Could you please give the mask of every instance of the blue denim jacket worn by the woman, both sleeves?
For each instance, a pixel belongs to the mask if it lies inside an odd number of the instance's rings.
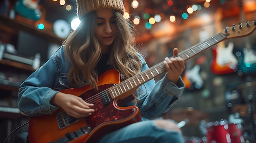
[[[141,61],[141,71],[147,70],[148,65],[138,53]],[[68,60],[69,61],[69,60]],[[32,73],[21,85],[18,92],[18,107],[28,116],[51,114],[59,107],[50,104],[50,100],[60,90],[70,88],[67,74],[70,70],[64,56],[64,46],[49,58],[43,66]],[[154,79],[141,85],[136,91],[137,106],[142,119],[153,119],[167,112],[180,98],[184,90],[184,82],[180,78],[177,85],[166,76],[155,83]],[[134,105],[132,101],[126,106]],[[145,119],[145,120],[146,120]]]

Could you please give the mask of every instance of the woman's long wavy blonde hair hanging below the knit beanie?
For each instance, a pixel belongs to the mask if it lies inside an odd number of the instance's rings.
[[[110,66],[119,70],[127,79],[141,71],[141,63],[135,47],[134,28],[119,11],[113,10],[117,37],[111,44]],[[97,88],[98,76],[95,67],[101,58],[101,47],[95,35],[97,16],[95,11],[85,15],[79,27],[63,42],[65,53],[72,67],[67,75],[71,87],[86,85]]]

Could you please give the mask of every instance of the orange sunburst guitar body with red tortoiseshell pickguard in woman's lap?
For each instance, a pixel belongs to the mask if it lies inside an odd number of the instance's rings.
[[[76,95],[85,100],[119,82],[119,72],[108,70],[99,76],[99,90],[92,89],[88,85],[61,90],[61,92]],[[99,98],[96,95],[92,100]],[[137,106],[122,108],[117,105],[118,100],[119,98],[110,98],[108,103],[104,103],[105,100],[102,99],[98,100],[94,103],[95,112],[82,119],[70,117],[61,108],[53,114],[30,117],[29,143],[95,143],[103,134],[141,120]],[[90,103],[90,100],[88,102]]]

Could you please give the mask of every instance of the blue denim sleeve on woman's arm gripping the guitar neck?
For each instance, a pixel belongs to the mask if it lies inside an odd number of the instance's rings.
[[[140,59],[142,64],[141,71],[147,70],[148,65],[141,55]],[[142,117],[153,119],[167,112],[180,99],[184,88],[185,84],[181,77],[176,85],[166,78],[166,73],[157,83],[152,79],[140,86],[136,91],[136,95],[138,95],[137,106]]]

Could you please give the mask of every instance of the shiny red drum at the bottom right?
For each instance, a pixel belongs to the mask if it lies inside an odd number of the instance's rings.
[[[225,120],[208,123],[206,138],[207,143],[245,143],[242,125]]]

